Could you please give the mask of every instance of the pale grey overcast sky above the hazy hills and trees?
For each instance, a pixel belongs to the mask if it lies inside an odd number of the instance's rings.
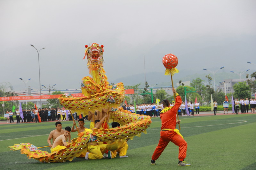
[[[19,91],[19,78],[31,78],[28,85],[39,88],[37,52],[30,44],[45,47],[41,84],[57,89],[80,88],[89,76],[84,45],[93,42],[104,45],[109,82],[144,73],[144,54],[147,73],[164,74],[168,53],[188,75],[221,66],[227,72],[255,70],[246,63],[256,63],[255,9],[254,0],[1,0],[0,82]]]

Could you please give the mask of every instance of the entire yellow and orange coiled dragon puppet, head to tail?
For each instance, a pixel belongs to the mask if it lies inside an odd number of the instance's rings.
[[[120,139],[132,139],[134,136],[140,136],[142,132],[147,133],[146,129],[151,123],[150,116],[137,115],[117,108],[124,100],[124,85],[123,83],[113,86],[108,84],[102,64],[103,52],[103,45],[99,46],[97,43],[93,43],[91,47],[86,47],[87,65],[93,78],[84,77],[82,79],[81,89],[84,97],[74,98],[65,93],[59,98],[60,104],[78,115],[87,115],[88,111],[111,108],[111,118],[122,126],[111,129],[94,129],[93,131],[85,130],[79,133],[78,137],[73,139],[64,149],[52,153],[39,150],[30,143],[14,144],[9,146],[12,148],[11,150],[20,150],[28,158],[41,162],[65,162],[67,160],[72,161],[82,152],[86,152],[90,142],[112,143]]]

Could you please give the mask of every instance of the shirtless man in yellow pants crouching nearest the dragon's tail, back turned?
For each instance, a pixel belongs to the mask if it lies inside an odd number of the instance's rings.
[[[67,139],[70,137],[71,128],[67,126],[64,130],[64,134],[58,136],[52,144],[51,152],[59,151],[61,149],[66,148],[68,145]]]

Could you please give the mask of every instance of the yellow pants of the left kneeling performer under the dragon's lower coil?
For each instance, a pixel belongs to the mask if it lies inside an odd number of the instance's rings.
[[[89,159],[102,159],[107,150],[107,144],[98,144],[88,146]]]

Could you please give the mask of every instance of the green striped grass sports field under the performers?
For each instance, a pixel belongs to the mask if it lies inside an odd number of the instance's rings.
[[[13,144],[29,142],[38,147],[47,145],[47,137],[55,122],[0,125],[0,169],[256,169],[256,114],[180,117],[180,133],[188,143],[188,167],[178,165],[178,146],[169,143],[151,166],[151,156],[158,144],[160,118],[152,118],[147,134],[128,141],[128,158],[40,163],[28,159],[20,151],[10,151]],[[72,126],[63,122],[62,127]],[[85,123],[89,127],[89,122]],[[71,134],[75,138],[76,133]],[[42,148],[50,152],[50,148]]]

